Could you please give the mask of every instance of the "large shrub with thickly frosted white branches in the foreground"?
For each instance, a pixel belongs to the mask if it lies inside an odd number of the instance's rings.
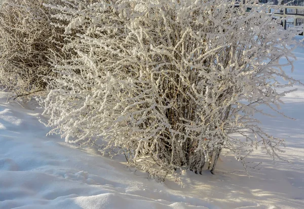
[[[283,140],[252,117],[276,109],[292,86],[290,31],[268,6],[222,0],[70,0],[65,45],[44,114],[66,142],[116,148],[130,164],[165,177],[176,169],[214,172],[223,148],[244,157],[258,147],[279,158]],[[280,58],[285,58],[280,64]],[[279,78],[283,78],[281,82]]]

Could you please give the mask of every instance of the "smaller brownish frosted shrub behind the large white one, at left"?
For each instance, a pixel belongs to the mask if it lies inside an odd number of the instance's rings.
[[[17,96],[46,89],[49,58],[61,52],[61,29],[43,3],[60,0],[6,0],[0,8],[0,82]]]

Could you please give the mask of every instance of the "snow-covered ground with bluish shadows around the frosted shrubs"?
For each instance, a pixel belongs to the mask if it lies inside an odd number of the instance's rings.
[[[304,81],[304,49],[295,51],[294,77]],[[286,138],[282,156],[292,163],[256,152],[262,161],[244,172],[229,154],[221,156],[215,175],[183,174],[185,187],[174,180],[158,183],[124,162],[78,148],[58,136],[47,136],[33,105],[7,103],[0,93],[0,208],[304,208],[304,87],[287,95],[282,116],[259,116],[275,136]]]

